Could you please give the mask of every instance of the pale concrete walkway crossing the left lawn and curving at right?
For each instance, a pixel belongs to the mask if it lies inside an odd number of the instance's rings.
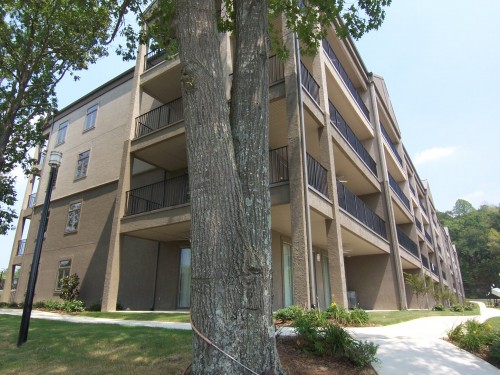
[[[500,310],[486,308],[478,302],[480,316],[429,317],[385,327],[349,328],[360,340],[379,345],[379,375],[499,375],[500,371],[478,357],[443,340],[447,332],[467,319],[480,322],[500,316]],[[21,310],[0,309],[0,314],[21,315]],[[188,323],[148,322],[61,315],[33,310],[32,318],[62,320],[74,323],[120,324],[168,329],[191,329]],[[283,332],[290,333],[289,330]]]

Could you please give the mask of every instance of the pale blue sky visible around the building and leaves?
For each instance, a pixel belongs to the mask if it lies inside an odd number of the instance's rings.
[[[459,198],[500,204],[499,14],[498,0],[394,0],[382,27],[356,42],[367,69],[385,78],[403,143],[440,211]],[[67,77],[59,107],[131,66],[111,53],[80,81]],[[0,236],[0,269],[13,240],[14,231]]]

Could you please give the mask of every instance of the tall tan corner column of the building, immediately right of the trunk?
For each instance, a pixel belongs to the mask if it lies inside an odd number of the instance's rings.
[[[300,131],[299,93],[297,85],[297,66],[294,59],[295,43],[293,33],[284,34],[285,45],[290,58],[285,61],[286,113],[288,124],[288,173],[290,185],[290,215],[292,232],[292,269],[293,302],[296,305],[310,306],[310,282],[308,238],[306,230],[306,204],[303,173],[302,135]]]

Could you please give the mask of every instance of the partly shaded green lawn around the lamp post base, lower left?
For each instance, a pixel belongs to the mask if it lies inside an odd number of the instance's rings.
[[[191,362],[190,331],[31,319],[17,348],[20,322],[0,315],[2,375],[182,374]]]

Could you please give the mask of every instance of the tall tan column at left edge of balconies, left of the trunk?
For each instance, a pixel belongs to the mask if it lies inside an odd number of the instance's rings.
[[[115,210],[113,214],[113,224],[111,226],[111,236],[108,250],[108,260],[106,263],[106,274],[104,279],[102,295],[102,311],[115,311],[118,301],[118,288],[120,284],[120,249],[122,236],[120,235],[120,220],[125,213],[126,192],[130,190],[130,180],[132,176],[132,156],[130,155],[130,140],[134,137],[135,118],[140,114],[141,88],[140,76],[144,69],[144,56],[146,46],[139,47],[135,66],[134,78],[132,80],[129,123],[130,129],[128,138],[123,143],[122,164],[120,179],[116,190]]]

